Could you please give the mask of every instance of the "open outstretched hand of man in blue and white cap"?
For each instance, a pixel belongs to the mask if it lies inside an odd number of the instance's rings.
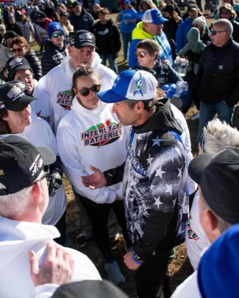
[[[90,189],[101,188],[106,185],[106,179],[104,174],[99,170],[90,165],[90,170],[94,173],[88,176],[81,176],[81,182],[85,187]]]

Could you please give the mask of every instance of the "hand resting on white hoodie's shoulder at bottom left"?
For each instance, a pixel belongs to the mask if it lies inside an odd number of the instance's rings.
[[[35,286],[52,283],[63,285],[71,282],[74,260],[71,254],[60,245],[49,242],[44,264],[39,268],[38,258],[34,251],[29,252],[30,277]]]

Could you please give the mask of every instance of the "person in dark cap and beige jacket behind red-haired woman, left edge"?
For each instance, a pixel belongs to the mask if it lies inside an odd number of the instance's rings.
[[[5,67],[7,60],[13,56],[12,40],[17,34],[14,31],[7,31],[0,44],[0,70]]]

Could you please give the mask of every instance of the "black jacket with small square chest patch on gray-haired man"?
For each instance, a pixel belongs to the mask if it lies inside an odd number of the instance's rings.
[[[239,44],[230,38],[222,47],[205,47],[193,89],[205,104],[234,106],[239,100]]]

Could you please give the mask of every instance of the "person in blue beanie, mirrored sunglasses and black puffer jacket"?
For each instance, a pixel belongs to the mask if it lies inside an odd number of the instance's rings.
[[[67,43],[64,40],[64,30],[58,22],[51,22],[47,27],[49,39],[46,40],[45,52],[41,57],[43,76],[59,65],[67,55]]]

